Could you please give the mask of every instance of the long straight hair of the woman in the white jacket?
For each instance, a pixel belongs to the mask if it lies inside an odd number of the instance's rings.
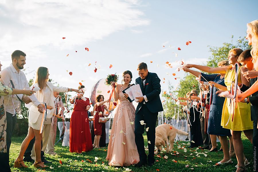
[[[48,81],[46,79],[47,73],[48,73],[48,68],[46,67],[39,67],[37,69],[33,84],[38,83],[38,87],[40,87],[40,93],[42,92],[42,89],[46,87],[46,82]]]

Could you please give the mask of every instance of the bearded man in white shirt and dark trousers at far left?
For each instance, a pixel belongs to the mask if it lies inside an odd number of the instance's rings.
[[[26,64],[26,54],[20,50],[15,50],[12,55],[12,63],[9,67],[3,69],[0,73],[2,76],[0,81],[11,88],[16,89],[30,89],[28,81],[26,79],[25,74],[21,71],[24,68],[24,64]],[[31,97],[31,98],[30,98]],[[21,101],[28,104],[32,102],[36,107],[38,107],[38,111],[43,113],[43,106],[38,102],[38,99],[35,95],[25,96],[23,94],[18,95],[9,95],[4,97],[4,107],[6,110],[7,116],[7,153],[9,155],[9,149],[11,145],[11,135],[13,133],[17,116],[16,114],[21,114]]]

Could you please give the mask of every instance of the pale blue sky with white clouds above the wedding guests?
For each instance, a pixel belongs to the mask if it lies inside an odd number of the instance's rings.
[[[19,49],[27,54],[25,67],[32,71],[28,79],[38,67],[48,67],[50,78],[62,86],[75,88],[85,80],[87,97],[94,83],[108,74],[130,70],[136,79],[138,63],[146,62],[165,91],[168,81],[177,85],[185,75],[175,72],[176,61],[205,63],[211,55],[208,45],[221,46],[231,41],[231,35],[233,42],[246,36],[246,24],[257,19],[257,6],[255,0],[1,1],[2,69]],[[186,46],[188,40],[192,43]]]

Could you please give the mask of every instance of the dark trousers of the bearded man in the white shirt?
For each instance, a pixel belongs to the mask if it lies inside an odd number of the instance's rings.
[[[8,162],[9,162],[9,152],[10,152],[10,146],[11,146],[11,137],[13,134],[13,130],[17,121],[16,114],[13,116],[13,114],[10,114],[9,112],[6,112],[6,120],[7,120],[7,126],[6,126],[6,144],[7,144],[7,154],[8,154]]]

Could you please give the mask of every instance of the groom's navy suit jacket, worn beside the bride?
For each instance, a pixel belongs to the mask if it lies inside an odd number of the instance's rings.
[[[136,78],[136,84],[140,85],[142,94],[146,95],[148,101],[145,102],[148,110],[151,113],[157,113],[163,111],[162,103],[159,97],[161,92],[160,79],[156,73],[148,72],[148,75],[145,80],[145,85],[143,87],[143,81],[140,77]],[[139,102],[136,107],[135,114],[138,113],[140,107],[142,107],[143,102]]]

